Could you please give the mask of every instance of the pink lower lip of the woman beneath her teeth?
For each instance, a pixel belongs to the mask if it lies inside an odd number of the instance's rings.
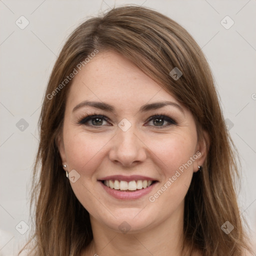
[[[110,188],[106,185],[104,185],[101,181],[98,181],[101,186],[105,189],[105,191],[112,195],[113,197],[115,197],[116,199],[122,199],[122,200],[134,200],[134,199],[138,199],[140,197],[142,197],[143,195],[148,194],[154,187],[154,185],[157,182],[154,182],[152,185],[146,187],[146,188],[141,188],[139,190],[135,190],[135,191],[120,191],[120,190],[116,190],[114,188]]]

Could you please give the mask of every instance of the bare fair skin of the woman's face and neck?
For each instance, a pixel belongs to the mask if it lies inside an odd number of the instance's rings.
[[[115,113],[92,106],[72,112],[84,100],[111,104]],[[183,112],[173,105],[139,112],[143,104],[165,100],[179,104]],[[109,121],[77,124],[94,113]],[[165,120],[159,127],[157,118],[147,121],[155,114],[169,116],[177,125]],[[131,123],[127,131],[117,125],[123,118]],[[205,160],[206,133],[204,137],[197,141],[191,112],[129,60],[114,51],[98,53],[90,60],[72,80],[58,140],[65,170],[74,169],[80,175],[70,185],[90,214],[93,241],[82,255],[181,255],[184,197],[193,172]],[[148,197],[197,151],[200,156],[150,202]],[[139,199],[119,200],[97,181],[114,174],[145,175],[158,182]],[[127,233],[118,228],[123,221],[130,226]]]

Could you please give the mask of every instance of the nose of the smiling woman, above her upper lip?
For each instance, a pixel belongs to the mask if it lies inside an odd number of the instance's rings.
[[[126,167],[133,166],[146,159],[146,145],[135,134],[133,126],[126,131],[117,128],[116,135],[112,139],[109,159]]]

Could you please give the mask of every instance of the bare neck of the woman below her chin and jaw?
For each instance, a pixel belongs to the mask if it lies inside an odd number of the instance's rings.
[[[93,240],[86,249],[88,255],[169,255],[184,256],[183,203],[160,222],[150,224],[143,231],[129,230],[121,233],[102,225],[90,216]],[[83,255],[87,255],[86,253]]]

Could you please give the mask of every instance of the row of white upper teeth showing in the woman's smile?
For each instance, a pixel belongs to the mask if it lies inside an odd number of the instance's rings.
[[[125,180],[104,180],[104,185],[120,190],[136,190],[141,188],[146,188],[152,184],[152,180],[132,180],[132,181],[125,181]]]

